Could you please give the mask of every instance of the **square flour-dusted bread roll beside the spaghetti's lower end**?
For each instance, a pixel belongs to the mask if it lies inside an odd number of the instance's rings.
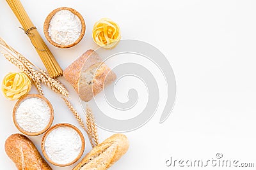
[[[64,78],[83,101],[90,101],[104,86],[115,81],[116,74],[93,50],[87,50],[63,71]]]

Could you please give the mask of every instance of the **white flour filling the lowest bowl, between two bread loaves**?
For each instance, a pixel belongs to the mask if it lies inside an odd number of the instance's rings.
[[[57,164],[65,165],[75,160],[82,148],[82,140],[71,127],[57,127],[45,139],[45,153]]]

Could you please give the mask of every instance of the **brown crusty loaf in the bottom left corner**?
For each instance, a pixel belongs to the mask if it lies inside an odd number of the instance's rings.
[[[32,141],[23,134],[12,134],[5,141],[5,152],[19,170],[50,170]]]

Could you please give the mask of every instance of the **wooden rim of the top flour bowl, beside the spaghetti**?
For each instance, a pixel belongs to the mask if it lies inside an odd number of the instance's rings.
[[[81,20],[81,24],[82,24],[81,34],[80,34],[79,38],[74,43],[72,43],[70,45],[60,45],[58,43],[55,43],[54,41],[52,41],[51,37],[49,36],[48,29],[49,29],[49,24],[51,22],[51,19],[55,15],[55,13],[57,13],[58,11],[61,11],[61,10],[71,11],[72,13],[74,13],[74,15],[76,15]],[[77,43],[79,43],[81,41],[81,39],[83,39],[83,36],[85,34],[85,29],[86,29],[86,26],[85,26],[84,18],[82,17],[82,15],[79,12],[77,12],[76,10],[74,10],[72,8],[68,8],[68,7],[61,7],[61,8],[57,8],[56,10],[53,10],[51,13],[49,13],[49,15],[46,17],[45,22],[44,22],[44,34],[45,34],[46,39],[49,41],[49,43],[51,43],[52,45],[57,46],[59,48],[69,48],[74,45],[77,45]]]

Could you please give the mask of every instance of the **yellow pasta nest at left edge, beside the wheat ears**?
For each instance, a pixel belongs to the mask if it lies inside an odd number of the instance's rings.
[[[8,73],[4,76],[2,91],[4,96],[13,101],[28,94],[31,89],[31,79],[25,73]]]

